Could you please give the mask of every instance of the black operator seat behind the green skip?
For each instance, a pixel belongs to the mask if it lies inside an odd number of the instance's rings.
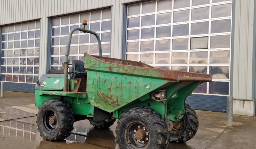
[[[87,71],[84,68],[84,62],[81,60],[72,60],[73,66],[75,66],[75,77],[76,78],[83,78],[86,76]]]

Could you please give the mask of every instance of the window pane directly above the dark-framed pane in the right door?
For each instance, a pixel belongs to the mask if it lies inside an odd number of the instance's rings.
[[[209,22],[191,23],[191,35],[208,34]]]

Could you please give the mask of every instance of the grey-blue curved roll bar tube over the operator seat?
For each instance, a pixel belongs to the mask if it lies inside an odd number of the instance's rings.
[[[86,22],[86,24],[87,24],[87,22]],[[69,55],[72,35],[76,30],[82,31],[84,33],[90,33],[90,34],[95,35],[97,40],[98,40],[99,56],[102,56],[101,41],[100,41],[99,35],[96,32],[93,32],[93,31],[88,30],[88,29],[80,28],[80,27],[72,28],[70,30],[69,34],[68,34],[67,49],[66,49],[66,52],[65,52],[65,57],[64,57],[64,62],[63,62],[64,65],[62,65],[64,67],[64,87],[63,87],[63,91],[66,91],[66,92],[68,91],[68,55]]]

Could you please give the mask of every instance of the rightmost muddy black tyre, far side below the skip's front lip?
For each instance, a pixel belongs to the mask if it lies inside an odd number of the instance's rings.
[[[195,110],[189,105],[185,104],[185,114],[181,120],[182,125],[170,131],[170,142],[183,143],[195,136],[199,127],[198,116]]]

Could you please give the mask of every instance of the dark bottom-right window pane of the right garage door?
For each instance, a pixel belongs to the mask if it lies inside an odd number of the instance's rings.
[[[228,82],[209,82],[209,94],[228,95]]]

